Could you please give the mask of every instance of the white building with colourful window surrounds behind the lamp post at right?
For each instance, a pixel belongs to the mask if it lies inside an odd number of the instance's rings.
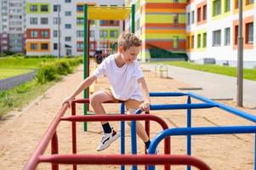
[[[256,6],[243,1],[243,61],[256,67]],[[213,58],[217,64],[236,66],[238,0],[191,0],[186,6],[187,54],[202,61]]]

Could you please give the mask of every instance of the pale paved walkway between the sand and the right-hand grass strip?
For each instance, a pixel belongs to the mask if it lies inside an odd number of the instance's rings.
[[[156,65],[141,64],[141,66],[145,69],[155,71]],[[227,77],[169,65],[168,77],[172,77],[179,82],[188,83],[195,89],[197,88],[197,90],[182,90],[183,92],[190,91],[209,99],[234,99],[236,101],[236,77]],[[243,105],[252,108],[256,107],[255,81],[243,81]]]

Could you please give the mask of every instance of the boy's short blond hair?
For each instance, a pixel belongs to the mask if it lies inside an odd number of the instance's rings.
[[[131,47],[141,46],[141,40],[139,37],[136,37],[134,33],[123,32],[118,38],[118,47],[122,47],[123,50],[127,50]]]

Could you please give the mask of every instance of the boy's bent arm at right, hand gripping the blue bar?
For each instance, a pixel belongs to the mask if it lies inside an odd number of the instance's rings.
[[[144,103],[142,103],[139,107],[140,109],[142,109],[142,111],[150,111],[151,98],[150,98],[149,90],[145,83],[145,78],[144,77],[139,78],[138,83],[144,99]]]

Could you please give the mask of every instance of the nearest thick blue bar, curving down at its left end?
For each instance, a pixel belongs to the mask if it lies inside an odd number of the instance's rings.
[[[179,127],[163,130],[158,133],[151,141],[149,154],[154,154],[157,145],[162,139],[168,136],[179,135],[202,135],[202,134],[230,134],[230,133],[256,133],[256,126],[234,126],[234,127]],[[155,166],[149,166],[148,169],[154,170]]]

